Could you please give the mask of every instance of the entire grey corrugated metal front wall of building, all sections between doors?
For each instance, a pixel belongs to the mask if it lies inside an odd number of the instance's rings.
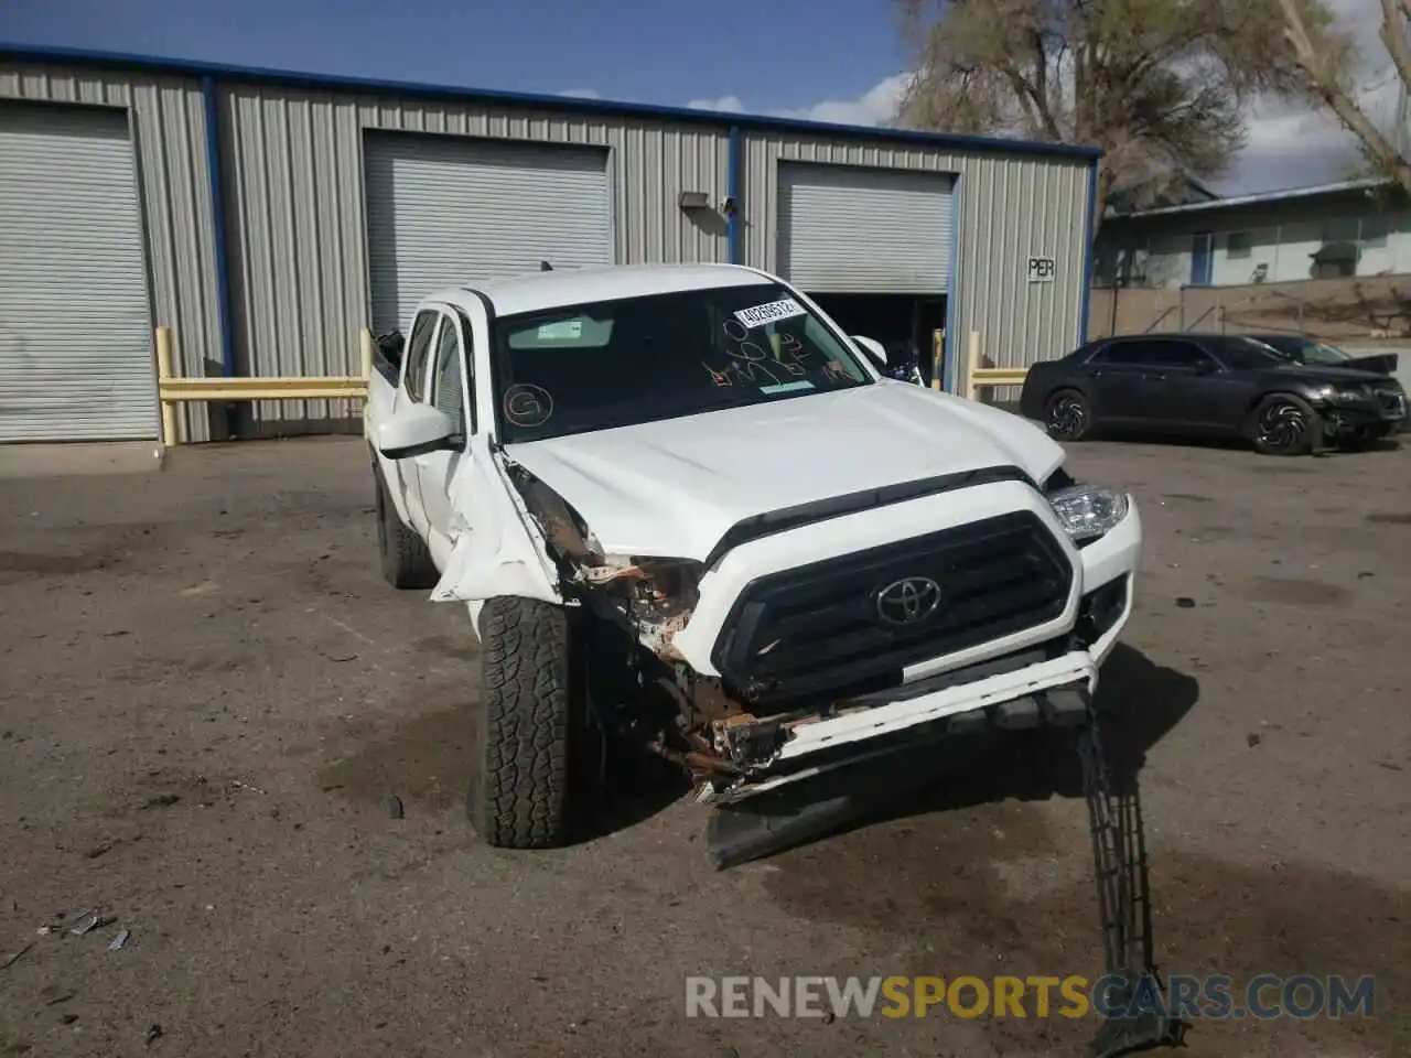
[[[368,323],[363,190],[365,128],[444,133],[611,151],[617,260],[725,261],[727,221],[686,213],[683,190],[718,205],[728,186],[724,121],[694,126],[423,97],[264,83],[222,83],[220,140],[237,371],[357,370]],[[185,374],[219,374],[222,344],[210,223],[205,109],[195,78],[109,68],[0,62],[0,97],[128,109],[137,133],[154,326],[171,326]],[[924,144],[752,133],[741,135],[742,264],[776,268],[777,164],[926,169],[959,175],[957,344],[972,329],[1000,365],[1055,355],[1078,337],[1088,162],[954,154]],[[1053,284],[1029,284],[1030,255]],[[217,409],[219,411],[219,409]],[[270,403],[260,422],[346,419],[356,408]],[[190,405],[186,436],[205,440]]]

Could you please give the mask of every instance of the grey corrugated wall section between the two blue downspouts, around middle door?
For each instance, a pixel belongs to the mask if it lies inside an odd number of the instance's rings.
[[[612,151],[617,260],[724,261],[727,227],[677,207],[724,196],[724,126],[662,126],[476,103],[281,86],[223,89],[236,357],[258,375],[350,374],[368,326],[363,130],[594,144]],[[447,281],[454,276],[447,276]],[[341,402],[261,405],[260,422],[340,419]]]

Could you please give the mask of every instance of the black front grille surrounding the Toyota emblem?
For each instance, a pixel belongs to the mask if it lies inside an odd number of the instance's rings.
[[[1072,576],[1043,522],[1017,511],[751,581],[713,660],[755,705],[892,686],[907,664],[1058,616]],[[940,604],[888,624],[878,594],[906,578],[934,581]]]

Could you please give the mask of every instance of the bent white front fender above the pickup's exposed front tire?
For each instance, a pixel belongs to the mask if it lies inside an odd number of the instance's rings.
[[[543,536],[505,475],[504,457],[485,436],[474,437],[460,473],[450,482],[453,511],[471,512],[474,523],[452,547],[433,602],[478,605],[497,595],[519,595],[563,602],[559,574],[545,550]]]

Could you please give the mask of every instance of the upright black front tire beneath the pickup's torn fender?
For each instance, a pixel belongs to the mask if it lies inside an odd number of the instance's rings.
[[[480,636],[484,688],[466,813],[490,845],[562,845],[587,712],[573,622],[563,607],[499,597],[481,609]]]

